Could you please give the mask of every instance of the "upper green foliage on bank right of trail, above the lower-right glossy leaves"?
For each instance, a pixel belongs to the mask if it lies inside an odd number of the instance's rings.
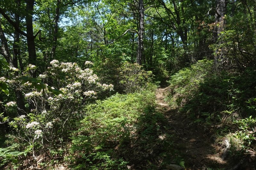
[[[231,115],[252,115],[255,70],[247,68],[242,73],[228,72],[211,66],[212,61],[202,60],[174,74],[169,81],[169,103],[183,106],[181,110],[191,113],[198,119],[196,122],[228,121],[231,124]],[[248,100],[249,107],[245,100]],[[224,119],[225,115],[228,115],[227,119]]]

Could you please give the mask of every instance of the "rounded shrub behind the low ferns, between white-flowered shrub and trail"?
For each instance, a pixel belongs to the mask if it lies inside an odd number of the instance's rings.
[[[121,61],[117,63],[116,59],[113,60],[113,58],[106,58],[94,70],[101,76],[102,80],[112,83],[114,90],[119,93],[132,93],[143,90],[147,88],[153,79],[152,72],[145,71],[142,66]]]

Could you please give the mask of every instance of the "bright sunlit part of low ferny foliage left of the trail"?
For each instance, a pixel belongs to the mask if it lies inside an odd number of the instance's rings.
[[[116,151],[109,149],[128,142],[129,137],[136,131],[134,123],[147,106],[154,106],[154,98],[154,93],[149,91],[129,95],[116,94],[87,106],[86,117],[75,132],[79,135],[72,137],[71,151],[79,151],[78,155],[82,156],[88,167],[100,162],[95,166],[108,168],[111,163],[108,161],[111,159],[112,163],[116,162],[115,166],[111,165],[112,168],[118,168],[120,159],[117,158]]]

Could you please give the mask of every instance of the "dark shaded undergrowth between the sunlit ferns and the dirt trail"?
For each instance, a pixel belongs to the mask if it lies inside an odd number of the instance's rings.
[[[168,119],[148,107],[134,125],[134,135],[118,149],[120,156],[129,161],[132,169],[164,169],[164,164],[179,163],[172,145],[173,136],[166,133],[166,128]]]

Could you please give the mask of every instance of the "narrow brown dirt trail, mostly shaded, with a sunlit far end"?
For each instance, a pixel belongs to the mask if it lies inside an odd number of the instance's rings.
[[[174,134],[174,146],[180,152],[185,161],[186,169],[227,168],[228,162],[221,159],[222,150],[214,143],[211,131],[213,128],[204,127],[186,115],[180,114],[177,109],[171,108],[164,101],[167,88],[159,88],[156,91],[159,109],[164,113],[172,127]]]

